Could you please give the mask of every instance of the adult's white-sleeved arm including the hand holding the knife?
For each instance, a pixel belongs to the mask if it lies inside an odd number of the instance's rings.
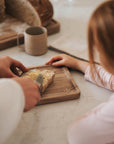
[[[38,89],[31,78],[0,79],[0,144],[13,133],[22,112],[39,102]]]

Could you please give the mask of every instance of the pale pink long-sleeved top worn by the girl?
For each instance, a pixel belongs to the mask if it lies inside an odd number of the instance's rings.
[[[96,83],[114,91],[114,75],[96,65]],[[85,79],[93,83],[90,66],[86,69]],[[102,82],[101,82],[102,81]],[[91,112],[78,119],[68,131],[69,144],[114,144],[114,93],[109,101],[100,104]]]

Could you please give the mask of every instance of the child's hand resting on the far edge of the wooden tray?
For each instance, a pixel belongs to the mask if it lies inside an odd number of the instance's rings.
[[[67,66],[69,68],[75,68],[75,64],[77,62],[77,59],[72,58],[71,56],[60,54],[57,56],[53,56],[48,62],[46,62],[46,65],[51,64],[52,66],[58,67],[58,66]]]

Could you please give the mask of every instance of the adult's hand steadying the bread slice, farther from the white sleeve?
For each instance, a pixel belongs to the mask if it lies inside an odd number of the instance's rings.
[[[27,71],[27,68],[22,63],[9,56],[0,58],[0,78],[17,77],[17,68],[22,72]]]

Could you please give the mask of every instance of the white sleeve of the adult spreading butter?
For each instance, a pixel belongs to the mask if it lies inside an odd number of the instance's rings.
[[[25,105],[21,86],[11,79],[0,79],[0,144],[17,127]]]

